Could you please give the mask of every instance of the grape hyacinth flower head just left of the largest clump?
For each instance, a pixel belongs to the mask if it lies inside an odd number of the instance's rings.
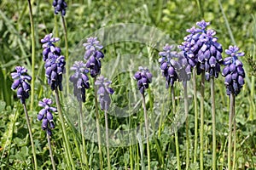
[[[177,61],[173,58],[177,58],[177,52],[172,51],[172,46],[166,44],[163,48],[164,51],[160,52],[159,55],[161,58],[160,62],[160,70],[162,71],[162,75],[166,77],[166,88],[169,86],[173,86],[174,82],[177,81],[177,71],[175,66],[177,67]]]

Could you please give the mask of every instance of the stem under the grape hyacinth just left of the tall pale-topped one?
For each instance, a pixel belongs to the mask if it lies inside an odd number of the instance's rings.
[[[86,150],[86,144],[84,140],[84,126],[83,126],[83,107],[82,107],[82,101],[79,101],[79,121],[80,121],[80,133],[82,137],[82,157],[83,161],[85,160],[85,166],[87,169],[89,169],[89,163],[88,163],[88,157],[87,157],[87,150]]]

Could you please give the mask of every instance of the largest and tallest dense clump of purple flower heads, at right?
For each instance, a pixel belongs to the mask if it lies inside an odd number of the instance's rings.
[[[214,37],[216,31],[207,30],[210,22],[201,20],[196,23],[200,28],[193,26],[187,31],[190,33],[184,37],[183,45],[179,46],[184,51],[185,56],[189,60],[192,67],[196,64],[197,74],[206,71],[206,79],[210,77],[218,77],[220,72],[220,64],[222,62],[223,52],[222,45],[218,43],[218,37]]]

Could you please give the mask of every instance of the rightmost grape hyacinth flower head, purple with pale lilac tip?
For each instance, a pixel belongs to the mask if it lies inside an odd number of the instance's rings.
[[[223,64],[225,67],[222,71],[222,76],[225,77],[224,84],[228,95],[239,94],[244,84],[245,71],[241,61],[238,59],[238,57],[244,56],[244,53],[238,51],[239,48],[236,46],[230,46],[229,49],[225,50],[229,57],[224,59]]]

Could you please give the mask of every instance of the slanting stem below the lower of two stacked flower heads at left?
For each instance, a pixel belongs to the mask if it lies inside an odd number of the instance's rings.
[[[64,141],[67,144],[67,150],[66,150],[67,155],[68,155],[69,161],[71,162],[71,165],[72,165],[73,169],[75,169],[74,162],[73,162],[73,156],[72,156],[71,149],[70,149],[69,140],[67,138],[64,116],[63,116],[62,111],[61,111],[61,102],[60,102],[60,96],[59,96],[58,88],[55,88],[55,100],[56,100],[57,110],[58,110],[59,117],[60,117],[61,130],[64,134]]]

